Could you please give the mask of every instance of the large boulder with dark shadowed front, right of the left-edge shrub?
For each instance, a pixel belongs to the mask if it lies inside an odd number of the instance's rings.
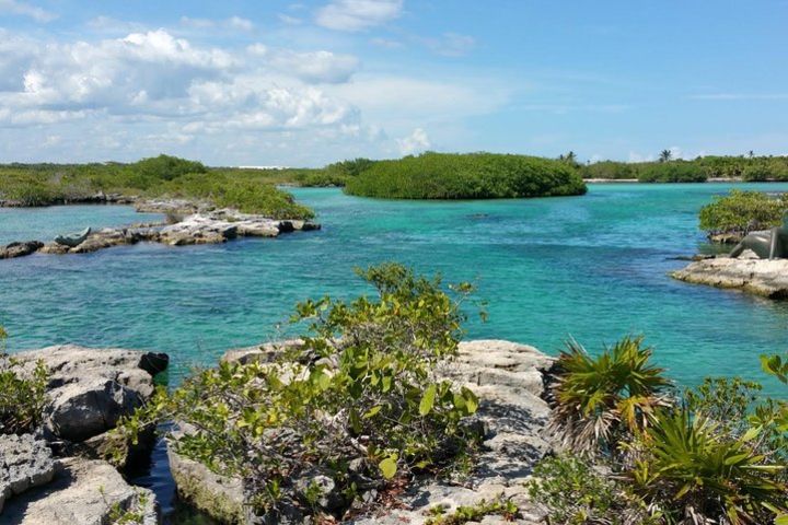
[[[46,427],[57,438],[83,442],[113,428],[153,394],[151,371],[166,354],[61,345],[15,354],[49,370]]]

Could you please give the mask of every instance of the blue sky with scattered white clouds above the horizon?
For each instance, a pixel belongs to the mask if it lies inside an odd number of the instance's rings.
[[[788,0],[0,0],[0,162],[788,154]]]

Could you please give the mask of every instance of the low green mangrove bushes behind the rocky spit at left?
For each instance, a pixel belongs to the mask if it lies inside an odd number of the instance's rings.
[[[282,176],[282,174],[276,174]],[[0,200],[46,206],[96,194],[186,197],[275,219],[308,219],[308,208],[277,189],[270,173],[208,168],[199,162],[160,155],[132,164],[10,164],[0,166]]]

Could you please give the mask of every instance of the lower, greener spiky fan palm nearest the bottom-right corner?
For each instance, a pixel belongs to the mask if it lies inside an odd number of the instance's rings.
[[[773,523],[788,511],[788,488],[745,438],[718,432],[717,423],[686,408],[659,410],[644,432],[646,451],[630,472],[647,501],[677,523]]]

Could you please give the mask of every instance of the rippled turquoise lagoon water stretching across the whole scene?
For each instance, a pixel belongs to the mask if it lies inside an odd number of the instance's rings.
[[[568,337],[593,350],[644,334],[681,384],[708,374],[760,377],[758,354],[786,350],[788,303],[668,277],[686,264],[675,257],[706,249],[697,210],[730,188],[595,185],[584,197],[474,202],[297,189],[318,212],[322,231],[0,261],[0,324],[12,350],[60,342],[159,350],[173,357],[177,377],[228,348],[281,337],[275,325],[296,301],[366,290],[354,267],[399,260],[477,282],[490,315],[486,324],[472,318],[468,337],[556,353]],[[0,238],[40,236],[33,229],[45,224],[60,231],[51,219],[74,210],[84,215],[62,229],[142,219],[118,207],[0,210]]]

